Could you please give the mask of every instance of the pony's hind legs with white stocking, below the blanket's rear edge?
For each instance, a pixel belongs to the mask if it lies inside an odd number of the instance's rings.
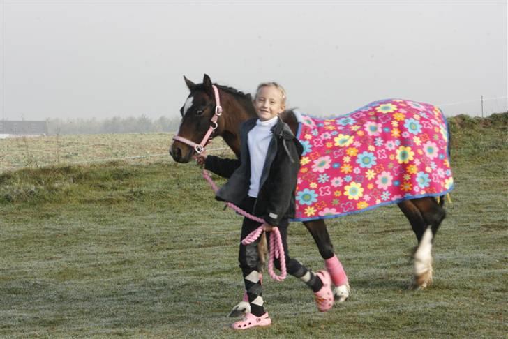
[[[433,198],[405,200],[398,203],[399,208],[408,218],[418,246],[414,251],[414,276],[410,289],[424,289],[433,280],[432,243],[438,227],[444,218],[442,209]]]

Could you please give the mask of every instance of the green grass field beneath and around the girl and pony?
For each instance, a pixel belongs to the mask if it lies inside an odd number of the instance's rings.
[[[243,290],[241,218],[223,211],[196,165],[167,156],[36,168],[42,160],[20,158],[31,167],[0,175],[0,337],[506,338],[508,113],[450,127],[456,188],[434,284],[407,290],[416,240],[396,206],[336,218],[350,300],[322,314],[297,279],[266,279],[274,324],[248,333],[226,317]],[[140,135],[109,137],[142,149]],[[167,135],[143,137],[167,152]],[[322,269],[301,223],[288,239],[292,257]]]

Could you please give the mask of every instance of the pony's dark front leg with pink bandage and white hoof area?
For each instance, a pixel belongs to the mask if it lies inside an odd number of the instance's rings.
[[[317,249],[320,251],[321,257],[324,259],[327,271],[330,273],[331,281],[335,285],[335,300],[338,303],[346,301],[349,298],[351,291],[348,283],[348,276],[346,276],[341,262],[334,253],[334,246],[331,244],[327,225],[323,220],[305,221],[304,225],[307,227],[308,232],[310,232],[313,236]]]

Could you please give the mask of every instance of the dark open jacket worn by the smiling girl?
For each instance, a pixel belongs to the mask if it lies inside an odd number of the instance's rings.
[[[250,119],[241,125],[240,159],[207,156],[204,168],[229,178],[217,191],[217,200],[239,205],[248,194],[251,185],[251,157],[247,135],[256,121],[257,119]],[[260,178],[260,191],[254,210],[247,212],[263,218],[270,225],[278,225],[282,218],[294,218],[294,190],[303,147],[280,118],[271,131],[272,138]]]

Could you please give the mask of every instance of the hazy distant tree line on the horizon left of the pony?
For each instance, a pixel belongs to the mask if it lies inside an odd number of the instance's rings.
[[[132,116],[111,119],[47,119],[49,135],[66,134],[110,134],[110,133],[150,133],[174,132],[178,130],[180,118],[160,116],[151,120],[144,114],[138,118]]]

